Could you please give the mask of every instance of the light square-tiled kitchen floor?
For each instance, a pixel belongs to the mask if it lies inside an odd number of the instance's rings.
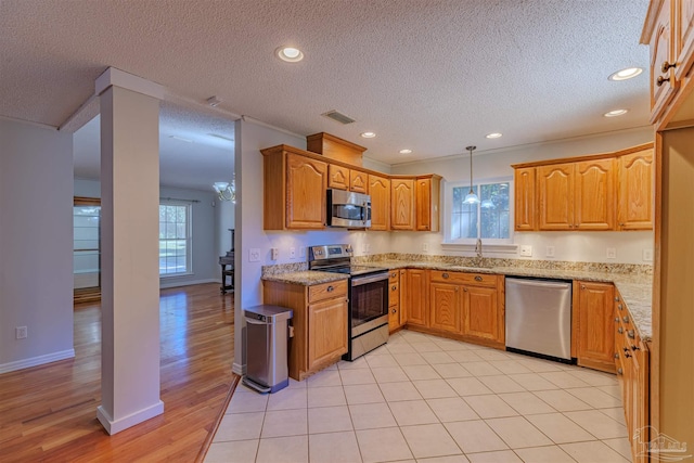
[[[272,395],[234,393],[205,462],[628,462],[615,375],[402,331]]]

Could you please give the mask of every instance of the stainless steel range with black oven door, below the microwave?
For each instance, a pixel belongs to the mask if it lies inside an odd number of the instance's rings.
[[[388,342],[388,269],[355,266],[349,244],[311,246],[308,268],[349,275],[349,350],[355,360]]]

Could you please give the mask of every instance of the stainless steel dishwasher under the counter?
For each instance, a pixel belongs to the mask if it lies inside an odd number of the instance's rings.
[[[571,362],[571,282],[506,278],[506,350]]]

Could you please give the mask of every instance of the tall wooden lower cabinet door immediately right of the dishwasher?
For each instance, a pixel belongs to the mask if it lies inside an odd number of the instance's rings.
[[[578,282],[578,364],[615,371],[615,335],[611,283]]]

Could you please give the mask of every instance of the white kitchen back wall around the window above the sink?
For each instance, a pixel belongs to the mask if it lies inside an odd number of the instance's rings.
[[[653,129],[644,127],[481,153],[473,157],[474,181],[513,177],[512,164],[613,152],[652,141]],[[470,158],[466,155],[460,155],[432,162],[393,166],[391,173],[438,173],[444,177],[445,181],[468,181],[468,163]],[[442,194],[441,198],[444,198]],[[445,204],[441,205],[441,210],[445,210]],[[444,223],[442,220],[441,223]],[[389,250],[394,253],[447,254],[441,247],[442,240],[442,232],[395,232],[391,236]],[[531,259],[548,259],[547,247],[553,246],[553,259],[555,260],[651,263],[643,260],[643,249],[653,249],[653,232],[515,232],[513,242],[531,245]],[[424,243],[427,243],[428,252],[423,252]],[[616,259],[607,259],[607,247],[616,248]],[[467,252],[461,255],[470,256],[472,253]],[[517,254],[490,255],[490,257],[520,258]]]

